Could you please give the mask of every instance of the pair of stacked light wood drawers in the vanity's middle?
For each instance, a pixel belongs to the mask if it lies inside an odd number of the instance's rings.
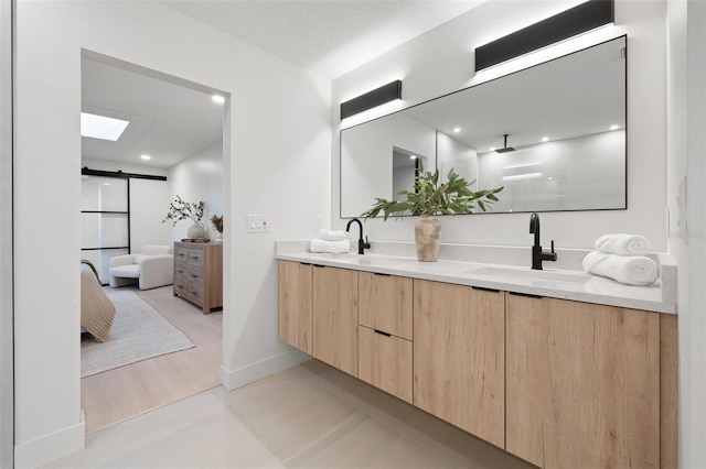
[[[413,280],[359,272],[359,378],[411,403]]]

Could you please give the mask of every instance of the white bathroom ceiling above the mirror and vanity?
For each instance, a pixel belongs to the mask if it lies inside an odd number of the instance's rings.
[[[328,77],[486,0],[162,0],[160,3]]]

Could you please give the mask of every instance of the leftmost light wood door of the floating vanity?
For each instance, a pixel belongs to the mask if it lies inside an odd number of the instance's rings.
[[[313,353],[312,268],[279,261],[279,340]]]

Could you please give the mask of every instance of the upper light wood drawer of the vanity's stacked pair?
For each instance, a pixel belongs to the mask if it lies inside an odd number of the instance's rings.
[[[413,280],[359,272],[359,324],[411,340]]]

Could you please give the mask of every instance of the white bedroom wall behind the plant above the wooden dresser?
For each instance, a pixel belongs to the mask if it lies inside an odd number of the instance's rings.
[[[206,204],[202,222],[206,228],[206,234],[215,239],[217,232],[213,228],[211,217],[223,215],[223,142],[214,143],[171,167],[169,185],[170,201],[179,195],[184,201],[203,200]],[[168,207],[164,207],[164,214]],[[171,227],[171,223],[168,225]],[[176,222],[170,233],[171,241],[186,238],[186,231],[191,225],[193,225],[191,220]]]

